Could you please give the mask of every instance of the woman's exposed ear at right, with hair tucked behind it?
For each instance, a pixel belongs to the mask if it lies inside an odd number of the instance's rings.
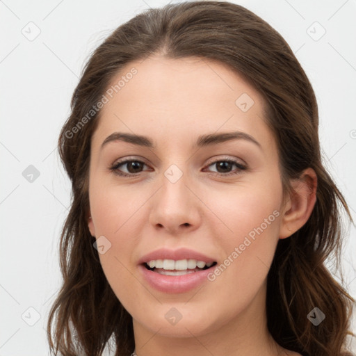
[[[317,183],[316,172],[312,168],[307,168],[300,178],[292,181],[293,191],[282,214],[280,238],[291,236],[307,223],[316,202]]]

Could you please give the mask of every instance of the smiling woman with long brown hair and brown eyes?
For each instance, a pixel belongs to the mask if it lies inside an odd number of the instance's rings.
[[[323,262],[340,252],[338,202],[350,213],[312,86],[257,15],[197,1],[120,26],[59,149],[73,201],[51,351],[347,355],[355,300]]]

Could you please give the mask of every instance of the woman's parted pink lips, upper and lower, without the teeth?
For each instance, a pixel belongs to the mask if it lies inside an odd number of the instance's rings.
[[[179,259],[196,259],[197,261],[204,261],[206,263],[216,261],[200,252],[187,248],[180,248],[179,250],[160,249],[145,254],[138,261],[140,273],[142,273],[143,278],[150,286],[163,293],[184,293],[203,282],[208,282],[207,276],[215,269],[215,266],[186,275],[161,275],[145,267],[145,262],[152,261],[153,259],[174,259],[176,261]]]

